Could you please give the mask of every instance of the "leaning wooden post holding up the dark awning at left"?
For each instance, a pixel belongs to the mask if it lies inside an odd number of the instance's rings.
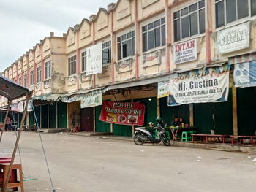
[[[21,129],[23,127],[23,123],[24,123],[24,120],[25,120],[25,117],[26,117],[26,111],[27,111],[30,99],[31,99],[31,94],[30,93],[26,93],[26,105],[25,105],[25,109],[23,111],[23,115],[22,115],[22,118],[21,118],[20,128],[19,128],[17,139],[16,139],[16,142],[15,142],[15,147],[14,147],[14,150],[12,152],[12,160],[10,162],[9,170],[7,172],[7,180],[5,181],[5,183],[3,183],[4,184],[3,185],[4,186],[3,192],[7,192],[7,185],[9,183],[10,173],[12,171],[12,165],[13,165],[13,162],[14,162],[14,159],[15,159],[15,155],[16,155],[16,152],[17,152],[17,148],[18,148],[18,144],[19,144],[19,141],[20,141]]]

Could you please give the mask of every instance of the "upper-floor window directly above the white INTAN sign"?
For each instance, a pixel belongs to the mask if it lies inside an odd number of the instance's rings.
[[[174,41],[205,32],[205,1],[173,13]]]

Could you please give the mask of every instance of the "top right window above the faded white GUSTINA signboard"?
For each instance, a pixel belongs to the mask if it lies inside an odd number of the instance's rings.
[[[256,0],[215,0],[216,28],[227,25],[233,21],[256,15]]]

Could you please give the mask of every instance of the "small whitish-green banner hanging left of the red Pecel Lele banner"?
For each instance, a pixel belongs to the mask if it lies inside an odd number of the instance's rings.
[[[102,105],[102,91],[93,91],[81,99],[81,109]]]

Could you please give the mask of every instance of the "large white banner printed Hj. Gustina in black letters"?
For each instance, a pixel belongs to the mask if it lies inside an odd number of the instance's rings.
[[[227,101],[229,71],[170,80],[168,106]]]

